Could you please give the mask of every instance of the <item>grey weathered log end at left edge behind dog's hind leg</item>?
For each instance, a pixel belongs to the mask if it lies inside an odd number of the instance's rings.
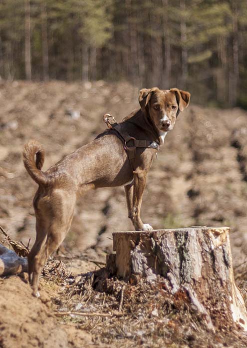
[[[27,272],[26,257],[17,256],[14,251],[0,244],[0,276],[22,272]]]

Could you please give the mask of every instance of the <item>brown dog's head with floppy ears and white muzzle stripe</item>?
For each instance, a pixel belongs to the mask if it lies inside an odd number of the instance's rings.
[[[160,90],[157,87],[139,92],[139,103],[144,113],[148,113],[158,131],[171,131],[175,125],[179,112],[190,103],[190,93],[172,88]]]

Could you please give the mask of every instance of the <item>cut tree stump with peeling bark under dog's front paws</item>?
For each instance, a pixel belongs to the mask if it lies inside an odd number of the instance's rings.
[[[225,323],[247,330],[247,310],[235,284],[229,227],[114,232],[106,269],[125,280],[162,277],[167,291],[182,291],[209,329]]]

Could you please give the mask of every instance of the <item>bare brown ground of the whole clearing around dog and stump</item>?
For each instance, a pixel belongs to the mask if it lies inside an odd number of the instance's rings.
[[[104,113],[121,120],[137,108],[137,97],[138,90],[127,83],[0,84],[0,226],[12,239],[27,244],[31,238],[31,246],[35,238],[32,198],[36,184],[22,164],[24,143],[35,138],[44,145],[46,169],[104,130]],[[152,165],[142,205],[143,221],[157,229],[230,226],[235,276],[246,293],[247,114],[240,109],[201,108],[195,102],[192,98],[192,105],[180,114]],[[80,117],[71,117],[77,111]],[[55,258],[65,262],[67,279],[71,273],[74,282],[75,274],[98,268],[93,261],[105,261],[113,231],[131,229],[123,188],[89,192],[78,200],[70,232]],[[85,289],[72,294],[71,284],[61,272],[43,274],[41,300],[31,297],[25,279],[0,279],[0,346],[246,346],[239,337],[239,345],[234,345],[232,338],[224,340],[223,331],[207,340],[205,332],[190,327],[193,332],[187,337],[186,326],[179,331],[181,325],[172,320],[171,313],[157,318],[155,303],[148,300],[150,312],[144,311],[146,321],[139,321],[143,328],[136,323],[137,329],[132,329],[134,319],[129,325],[121,324],[123,319],[118,316],[90,321],[83,316],[54,316],[55,310],[64,308],[98,311],[103,302],[119,303],[112,293],[99,293],[98,300]],[[136,296],[141,293],[135,291]],[[127,305],[124,302],[125,310]],[[113,305],[111,309],[117,308]],[[141,310],[141,305],[136,310]],[[161,329],[164,325],[166,329]]]

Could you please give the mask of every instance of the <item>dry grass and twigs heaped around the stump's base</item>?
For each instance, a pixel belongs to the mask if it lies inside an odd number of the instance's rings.
[[[207,331],[187,295],[171,295],[161,278],[152,284],[136,277],[130,282],[105,279],[103,268],[75,276],[67,273],[66,277],[61,261],[48,263],[45,274],[61,286],[61,295],[53,298],[54,313],[63,322],[90,332],[96,344],[123,348],[247,346],[241,332]]]

